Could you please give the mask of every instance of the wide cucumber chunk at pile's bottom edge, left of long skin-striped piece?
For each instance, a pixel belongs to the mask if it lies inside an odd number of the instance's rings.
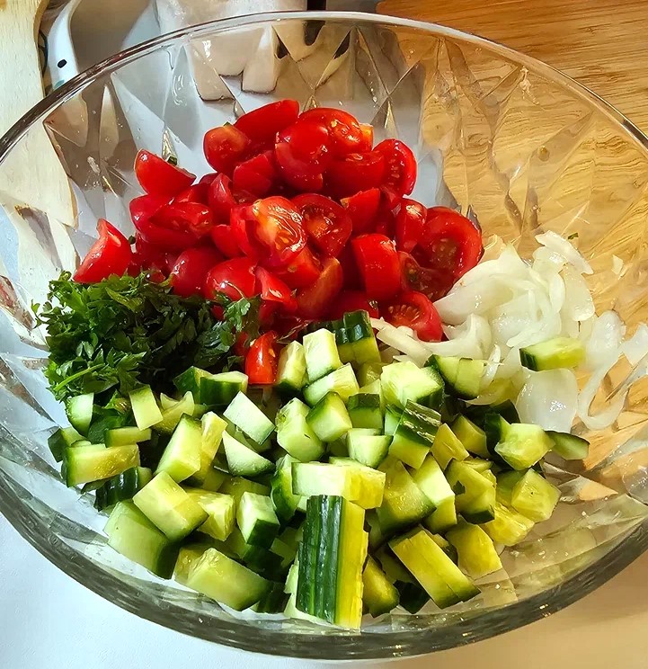
[[[244,611],[268,593],[271,583],[217,549],[207,549],[191,566],[187,587]]]

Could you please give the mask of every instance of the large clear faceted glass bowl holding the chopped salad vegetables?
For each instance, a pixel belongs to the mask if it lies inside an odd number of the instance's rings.
[[[203,133],[272,100],[344,108],[416,154],[413,197],[445,204],[530,253],[541,231],[578,234],[599,310],[631,333],[648,317],[648,140],[555,70],[492,42],[360,13],[283,13],[177,31],[104,61],[0,139],[0,511],[45,557],[102,597],[168,628],[244,650],[354,659],[412,656],[515,629],[576,601],[648,546],[645,369],[590,457],[549,474],[555,516],[502,555],[501,573],[461,607],[395,611],[362,633],[221,609],[107,547],[90,496],[63,485],[47,438],[64,421],[41,367],[31,303],[72,269],[98,218],[129,234],[139,148],[208,170]],[[54,147],[52,149],[52,147]],[[58,160],[53,160],[56,156]],[[36,170],[49,165],[49,176]],[[38,174],[42,174],[42,171]],[[58,190],[57,190],[58,189]],[[55,197],[51,197],[51,193]]]

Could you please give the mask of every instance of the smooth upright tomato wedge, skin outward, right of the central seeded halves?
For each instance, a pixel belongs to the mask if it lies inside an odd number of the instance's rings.
[[[401,266],[394,242],[384,235],[360,235],[351,241],[369,299],[389,299],[401,285]]]

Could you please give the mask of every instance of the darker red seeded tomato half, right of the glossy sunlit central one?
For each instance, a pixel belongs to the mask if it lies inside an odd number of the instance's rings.
[[[351,217],[337,202],[324,195],[297,195],[293,203],[300,210],[306,233],[325,255],[337,257],[349,241]]]

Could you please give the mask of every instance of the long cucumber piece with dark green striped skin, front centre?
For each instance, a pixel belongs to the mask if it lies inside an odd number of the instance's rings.
[[[299,611],[333,625],[360,629],[362,566],[368,548],[364,515],[360,506],[339,496],[309,498],[298,554]]]

